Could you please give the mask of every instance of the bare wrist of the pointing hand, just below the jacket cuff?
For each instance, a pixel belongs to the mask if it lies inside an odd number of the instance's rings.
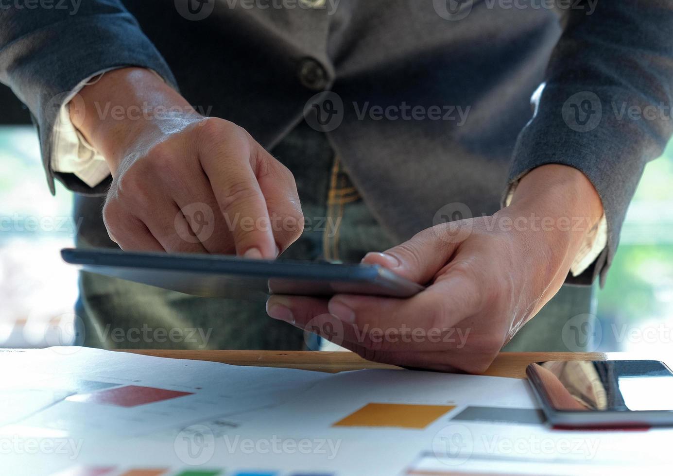
[[[71,121],[103,155],[113,175],[137,138],[157,129],[157,118],[176,111],[196,114],[177,91],[141,68],[104,73],[70,103]]]

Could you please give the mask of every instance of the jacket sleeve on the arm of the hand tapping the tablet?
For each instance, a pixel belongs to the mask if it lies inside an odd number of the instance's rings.
[[[12,3],[0,8],[0,82],[32,114],[52,194],[54,177],[74,192],[100,194],[108,182],[90,188],[75,174],[55,173],[50,166],[53,130],[65,98],[83,79],[115,67],[152,69],[173,86],[175,79],[120,0],[52,5],[46,9]]]

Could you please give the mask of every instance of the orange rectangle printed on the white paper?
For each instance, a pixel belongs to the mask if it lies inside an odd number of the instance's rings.
[[[456,407],[452,405],[367,403],[333,426],[396,426],[422,429],[454,408]]]

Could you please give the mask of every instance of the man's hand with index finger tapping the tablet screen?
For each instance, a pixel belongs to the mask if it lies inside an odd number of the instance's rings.
[[[144,69],[79,96],[71,118],[112,172],[103,217],[122,249],[273,259],[301,235],[294,177],[246,130],[197,114]]]

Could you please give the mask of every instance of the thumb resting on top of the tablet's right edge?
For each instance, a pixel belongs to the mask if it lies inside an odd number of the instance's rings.
[[[446,229],[448,225],[456,227],[457,223],[442,223],[425,229],[409,241],[383,253],[367,253],[362,262],[378,264],[403,278],[419,284],[427,284],[441,268],[444,268],[458,245],[464,241],[463,239],[447,239],[447,237],[455,236],[455,233],[448,235]],[[462,224],[464,227],[470,225]]]

